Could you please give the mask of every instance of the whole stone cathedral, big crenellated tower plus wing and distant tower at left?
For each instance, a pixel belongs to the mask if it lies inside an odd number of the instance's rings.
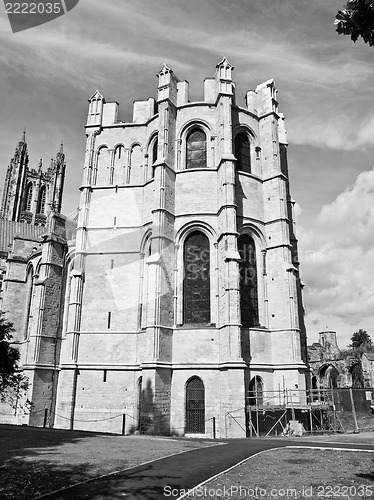
[[[224,58],[191,102],[164,64],[157,99],[135,101],[130,123],[96,91],[76,220],[60,213],[63,150],[43,173],[19,143],[1,306],[30,405],[3,405],[0,421],[243,437],[253,394],[305,403],[284,116],[273,80],[237,103],[232,71]]]

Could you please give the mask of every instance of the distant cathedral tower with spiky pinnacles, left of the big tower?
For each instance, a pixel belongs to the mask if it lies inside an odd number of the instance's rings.
[[[42,160],[38,170],[29,168],[24,132],[6,173],[0,218],[45,226],[51,212],[61,211],[65,168],[62,144],[46,172]]]

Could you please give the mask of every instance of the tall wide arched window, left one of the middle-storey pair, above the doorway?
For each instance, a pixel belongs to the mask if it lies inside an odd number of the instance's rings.
[[[210,323],[210,250],[205,234],[195,231],[184,243],[183,322]]]

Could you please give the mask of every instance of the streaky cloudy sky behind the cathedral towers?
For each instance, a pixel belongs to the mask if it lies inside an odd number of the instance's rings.
[[[131,120],[164,62],[191,100],[226,56],[244,93],[274,77],[288,128],[310,342],[374,338],[374,48],[334,31],[344,0],[80,0],[13,34],[0,6],[0,178],[27,128],[32,166],[65,144],[63,211],[78,205],[87,99],[98,88]],[[244,100],[242,101],[244,103]],[[1,181],[2,182],[2,181]]]

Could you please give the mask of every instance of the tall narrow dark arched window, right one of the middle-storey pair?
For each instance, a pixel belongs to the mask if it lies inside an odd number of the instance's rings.
[[[253,238],[242,234],[238,240],[240,315],[244,327],[258,326],[256,247]]]

